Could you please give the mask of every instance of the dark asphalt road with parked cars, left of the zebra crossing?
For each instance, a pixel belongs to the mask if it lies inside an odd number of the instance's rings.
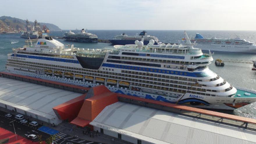
[[[13,115],[10,118],[5,117],[6,112],[0,111],[0,127],[7,129],[8,131],[11,131],[14,133],[13,124],[15,127],[16,134],[19,136],[27,138],[29,134],[35,134],[35,135],[42,135],[42,140],[45,141],[47,138],[49,138],[49,134],[46,134],[42,131],[37,130],[38,127],[33,127],[29,125],[29,122],[26,124],[23,124],[19,122],[19,120],[16,120]],[[14,121],[13,121],[14,120]],[[13,123],[12,123],[13,121]],[[11,122],[11,123],[10,123]],[[34,141],[38,141],[38,138]]]

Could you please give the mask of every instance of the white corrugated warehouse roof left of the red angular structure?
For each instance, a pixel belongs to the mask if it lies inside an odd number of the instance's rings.
[[[0,77],[0,103],[52,119],[53,107],[82,95],[67,90]]]

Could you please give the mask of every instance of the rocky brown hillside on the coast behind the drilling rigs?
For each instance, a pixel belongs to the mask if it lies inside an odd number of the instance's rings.
[[[49,23],[38,22],[42,28],[42,25],[46,25],[46,27],[50,31],[60,31],[61,29]],[[34,22],[30,22],[31,25],[34,25]],[[2,32],[20,32],[26,30],[26,20],[18,19],[15,17],[0,17],[0,33]]]

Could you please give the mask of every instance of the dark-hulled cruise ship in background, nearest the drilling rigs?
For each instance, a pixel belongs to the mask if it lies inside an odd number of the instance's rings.
[[[92,33],[88,33],[81,30],[81,33],[74,33],[72,31],[64,33],[63,38],[67,41],[75,41],[75,42],[98,42],[98,36]]]

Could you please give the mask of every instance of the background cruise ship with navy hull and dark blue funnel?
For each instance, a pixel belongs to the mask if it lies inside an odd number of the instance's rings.
[[[115,36],[115,39],[109,40],[113,45],[129,45],[134,44],[135,40],[141,40],[144,38],[144,45],[147,45],[150,40],[154,40],[154,44],[161,44],[157,37],[147,35],[147,31],[142,31],[139,35],[128,36],[125,33]]]

